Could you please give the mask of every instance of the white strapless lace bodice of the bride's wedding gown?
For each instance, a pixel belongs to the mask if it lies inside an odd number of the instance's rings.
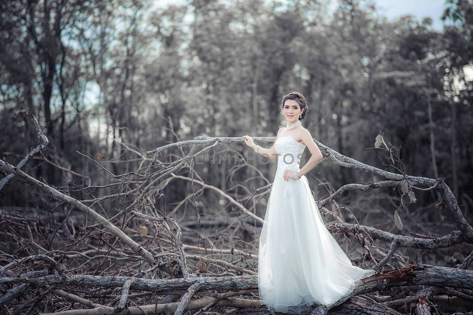
[[[306,149],[305,144],[286,136],[276,140],[274,149],[278,153],[278,171],[289,169],[297,172],[299,170],[300,158],[302,157],[302,152]]]

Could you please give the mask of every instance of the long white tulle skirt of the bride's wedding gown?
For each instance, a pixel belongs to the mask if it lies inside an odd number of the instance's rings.
[[[278,169],[259,240],[260,302],[292,314],[330,307],[376,271],[352,265],[325,227],[306,176],[285,182],[282,175]]]

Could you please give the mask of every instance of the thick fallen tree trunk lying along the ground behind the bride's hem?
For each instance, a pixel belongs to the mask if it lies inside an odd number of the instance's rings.
[[[181,291],[184,292],[192,286],[196,286],[198,290],[251,290],[258,288],[258,279],[255,276],[245,275],[236,277],[204,277],[204,278],[182,278],[182,279],[140,279],[135,278],[130,281],[127,277],[105,277],[105,276],[91,276],[91,275],[47,275],[39,278],[29,277],[4,277],[0,278],[0,283],[24,283],[34,284],[38,287],[45,286],[78,286],[81,288],[124,288],[126,292],[128,290],[139,290],[148,291],[154,293],[168,292],[168,291]],[[383,274],[377,274],[368,278],[363,279],[357,283],[355,289],[350,292],[347,296],[341,298],[333,307],[341,305],[344,301],[349,298],[366,294],[378,290],[385,290],[392,287],[403,287],[411,285],[432,285],[438,287],[455,287],[466,290],[473,290],[473,271],[463,270],[458,268],[438,267],[432,265],[409,265],[405,268],[390,271]],[[422,294],[419,293],[419,296]],[[235,299],[230,299],[235,301]],[[192,301],[191,301],[192,302]],[[238,303],[234,304],[234,307],[241,307],[241,300],[237,300]],[[230,303],[230,302],[226,302]],[[248,302],[248,303],[254,303]],[[259,301],[258,301],[259,303]],[[369,302],[366,302],[371,304]],[[163,311],[169,310],[172,307],[177,307],[179,303],[169,303],[161,305]],[[218,304],[216,304],[217,306]],[[226,304],[228,305],[228,304]],[[152,305],[155,307],[155,305]],[[140,306],[133,310],[132,307],[128,308],[130,314],[138,314],[139,309],[145,309]],[[195,309],[192,303],[188,303],[185,310]],[[350,308],[350,307],[347,307]],[[359,309],[360,306],[354,307]],[[123,309],[120,307],[120,309]],[[82,310],[82,314],[114,314],[117,309],[95,307],[94,309]],[[159,312],[158,312],[159,313]],[[74,311],[60,312],[56,314],[77,314]],[[394,313],[393,313],[394,314]]]

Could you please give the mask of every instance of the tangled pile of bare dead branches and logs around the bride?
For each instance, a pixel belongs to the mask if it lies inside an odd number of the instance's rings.
[[[44,207],[0,208],[3,313],[269,314],[258,296],[256,244],[263,218],[255,214],[255,199],[268,194],[271,183],[247,195],[232,194],[205,183],[193,168],[194,159],[206,151],[243,138],[196,137],[171,143],[141,156],[143,165],[148,165],[127,174],[113,174],[102,163],[104,156],[97,155],[97,161],[77,151],[113,182],[93,185],[87,175],[74,173],[87,177],[84,187],[70,183],[56,189],[21,170],[30,158],[41,154],[48,142],[35,117],[26,111],[20,113],[35,125],[39,144],[17,166],[0,160],[4,175],[0,191],[14,181],[27,183]],[[274,140],[254,137],[254,141]],[[390,166],[401,165],[394,147],[386,142],[380,134],[375,146],[385,150]],[[316,143],[324,159],[385,178],[344,185],[318,199],[322,213],[329,213],[327,206],[336,203],[345,191],[394,187],[401,195],[394,222],[402,230],[405,227],[399,213],[407,202],[415,202],[414,190],[433,190],[438,197],[437,207],[449,212],[456,229],[445,235],[407,235],[363,224],[327,224],[336,237],[357,241],[358,250],[350,254],[354,264],[378,273],[357,282],[355,289],[330,310],[315,305],[307,309],[307,314],[466,314],[462,311],[473,309],[473,271],[468,270],[473,260],[473,227],[444,179],[410,176],[402,167],[397,168],[399,173],[388,172]],[[191,148],[184,153],[182,147],[187,145]],[[175,147],[181,149],[182,157],[171,163],[158,159],[163,151]],[[176,174],[186,168],[190,177]],[[192,189],[164,215],[156,207],[155,195],[173,180],[190,182]],[[233,216],[222,214],[207,219],[202,212],[201,219],[195,199],[203,190],[226,200],[228,207],[238,210],[236,216],[234,211]],[[192,205],[193,220],[183,210],[187,203]],[[218,230],[209,235],[204,226]],[[225,238],[232,241],[223,242]],[[467,254],[458,264],[448,265],[447,259],[442,266],[422,262],[422,253],[459,247]],[[412,250],[417,255],[409,254]],[[360,257],[353,257],[354,253]]]

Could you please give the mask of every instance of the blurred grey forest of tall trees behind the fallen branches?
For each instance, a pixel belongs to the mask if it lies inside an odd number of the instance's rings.
[[[331,15],[329,2],[318,1],[195,0],[165,8],[126,0],[6,3],[0,152],[15,164],[35,144],[26,121],[12,119],[18,109],[29,110],[47,123],[50,142],[27,169],[54,187],[82,181],[56,166],[94,172],[76,148],[105,156],[114,174],[123,174],[140,166],[143,152],[167,143],[199,135],[274,136],[285,124],[282,96],[300,91],[315,138],[382,166],[369,149],[382,131],[400,149],[407,173],[445,177],[466,215],[471,211],[471,1],[445,2],[443,31],[429,17],[375,17],[375,1],[341,0]],[[231,161],[207,156],[196,165],[204,182],[223,191],[252,174],[241,168],[229,180],[238,156],[253,154],[241,144],[230,147]],[[273,174],[275,163],[256,163]],[[308,176],[315,191],[318,175],[334,187],[373,180],[329,163],[316,172]],[[40,206],[13,187],[2,205]],[[170,182],[160,207],[185,191],[189,184]],[[212,204],[213,197],[203,191]]]

